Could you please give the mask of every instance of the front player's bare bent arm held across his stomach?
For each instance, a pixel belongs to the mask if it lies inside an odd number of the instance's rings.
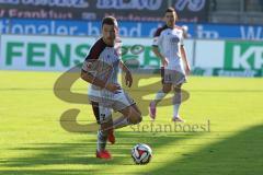
[[[101,89],[106,89],[111,92],[116,92],[117,90],[121,90],[121,86],[118,84],[106,83],[105,81],[100,80],[99,78],[94,77],[89,71],[85,72],[85,71],[81,70],[81,79],[88,83],[100,86]]]

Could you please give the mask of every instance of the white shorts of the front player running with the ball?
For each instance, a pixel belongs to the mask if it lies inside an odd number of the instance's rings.
[[[112,93],[111,97],[94,94],[96,93],[93,92],[92,95],[89,94],[88,96],[91,101],[93,114],[98,124],[107,122],[112,118],[112,110],[119,112],[135,104],[134,100],[123,90],[119,90],[119,93],[116,94]]]

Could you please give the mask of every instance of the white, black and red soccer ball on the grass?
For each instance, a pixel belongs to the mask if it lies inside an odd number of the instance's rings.
[[[147,164],[152,156],[151,148],[144,143],[138,143],[132,149],[132,158],[136,164]]]

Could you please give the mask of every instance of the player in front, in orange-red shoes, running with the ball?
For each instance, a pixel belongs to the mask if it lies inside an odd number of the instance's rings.
[[[91,83],[88,97],[100,129],[98,131],[96,158],[111,159],[105,149],[107,140],[115,142],[114,129],[141,121],[141,113],[135,102],[126,94],[117,81],[118,69],[125,74],[126,85],[132,86],[133,77],[122,62],[116,43],[118,25],[116,19],[104,18],[102,37],[91,47],[81,71],[81,78]],[[112,109],[122,113],[122,117],[112,119]]]

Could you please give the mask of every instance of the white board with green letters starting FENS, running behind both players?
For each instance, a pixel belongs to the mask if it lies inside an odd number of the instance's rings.
[[[82,62],[94,37],[2,35],[0,69],[65,71]],[[159,68],[160,59],[151,50],[152,38],[122,38],[122,59],[140,68]],[[185,40],[193,62],[193,40]]]

